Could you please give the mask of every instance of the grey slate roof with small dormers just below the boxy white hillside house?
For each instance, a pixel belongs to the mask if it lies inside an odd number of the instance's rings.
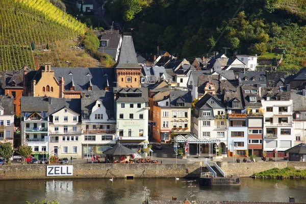
[[[239,72],[239,83],[241,85],[256,85],[267,86],[266,72],[262,71],[250,71],[250,72]]]

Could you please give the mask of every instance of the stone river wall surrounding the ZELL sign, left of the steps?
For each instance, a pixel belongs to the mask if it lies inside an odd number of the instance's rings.
[[[200,163],[194,164],[72,164],[72,176],[46,176],[47,165],[2,165],[0,180],[45,178],[199,177]]]

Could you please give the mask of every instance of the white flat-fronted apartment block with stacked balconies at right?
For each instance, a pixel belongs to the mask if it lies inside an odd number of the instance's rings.
[[[295,136],[292,123],[292,99],[287,87],[261,87],[261,103],[266,110],[264,115],[263,148],[267,157],[284,157],[285,150],[293,147]]]

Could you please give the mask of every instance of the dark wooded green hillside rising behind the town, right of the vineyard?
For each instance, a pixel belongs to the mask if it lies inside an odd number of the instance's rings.
[[[134,28],[140,53],[159,47],[192,61],[215,44],[230,57],[285,50],[278,69],[289,72],[306,65],[306,0],[109,0],[107,9],[125,32]]]

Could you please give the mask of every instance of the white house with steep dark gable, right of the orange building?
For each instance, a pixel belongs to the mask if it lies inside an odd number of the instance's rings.
[[[224,106],[212,95],[203,96],[192,112],[191,132],[197,139],[219,140],[221,153],[227,148],[227,116]],[[201,144],[201,153],[208,153],[209,144]]]

